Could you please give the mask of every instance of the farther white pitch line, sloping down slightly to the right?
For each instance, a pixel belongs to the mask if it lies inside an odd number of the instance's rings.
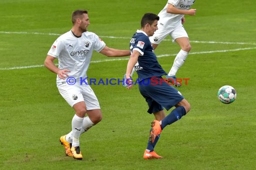
[[[38,32],[10,32],[0,31],[0,34],[35,34],[35,35],[58,35],[57,33],[38,33]],[[114,36],[99,36],[101,38],[113,38],[113,39],[131,39],[130,37],[114,37]],[[172,41],[172,39],[164,39],[163,41]],[[236,42],[215,42],[215,41],[190,41],[191,43],[210,43],[210,44],[240,44],[240,45],[256,45],[256,43],[236,43]]]

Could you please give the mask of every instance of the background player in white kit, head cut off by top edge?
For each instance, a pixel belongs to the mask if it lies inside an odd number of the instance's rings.
[[[182,24],[185,22],[184,15],[195,15],[196,9],[190,9],[194,2],[195,0],[168,0],[165,7],[158,14],[160,17],[158,30],[150,37],[150,42],[154,49],[156,49],[159,43],[168,35],[172,37],[173,43],[176,42],[181,47],[181,50],[174,59],[171,70],[166,76],[166,79],[169,79],[169,81],[176,86],[181,86],[181,84],[176,81],[176,73],[184,64],[191,50],[188,34]],[[174,82],[172,82],[172,80],[174,80]]]

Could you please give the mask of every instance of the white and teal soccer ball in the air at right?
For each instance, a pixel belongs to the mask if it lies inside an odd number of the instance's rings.
[[[217,96],[222,103],[230,104],[236,99],[236,91],[232,86],[224,85],[219,89]]]

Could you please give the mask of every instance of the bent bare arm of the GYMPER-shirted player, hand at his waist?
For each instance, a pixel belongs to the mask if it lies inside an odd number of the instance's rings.
[[[70,70],[61,70],[57,68],[56,65],[53,63],[54,59],[55,57],[47,55],[46,59],[44,60],[44,66],[48,68],[50,71],[55,72],[58,75],[58,77],[64,80],[66,77],[68,77],[68,74],[66,72],[70,72]]]

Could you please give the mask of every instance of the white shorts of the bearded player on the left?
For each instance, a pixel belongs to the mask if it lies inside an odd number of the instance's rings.
[[[100,109],[99,101],[89,85],[58,85],[60,94],[73,107],[75,103],[85,102],[87,110]]]

